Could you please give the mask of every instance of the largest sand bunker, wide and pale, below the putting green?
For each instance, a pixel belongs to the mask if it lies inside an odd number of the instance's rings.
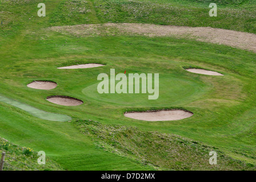
[[[144,121],[173,121],[189,118],[193,113],[185,110],[160,110],[137,113],[125,113],[125,117]]]

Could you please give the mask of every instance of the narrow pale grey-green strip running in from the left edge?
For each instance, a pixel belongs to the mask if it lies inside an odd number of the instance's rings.
[[[27,104],[23,104],[22,102],[11,100],[10,98],[0,96],[0,101],[5,102],[6,104],[10,104],[12,106],[18,107],[19,109],[27,111],[27,113],[30,113],[31,115],[34,115],[34,117],[38,117],[40,119],[45,119],[49,121],[70,121],[72,118],[68,115],[63,114],[55,114],[55,113],[48,113],[43,110],[39,110],[35,107],[32,107]]]

